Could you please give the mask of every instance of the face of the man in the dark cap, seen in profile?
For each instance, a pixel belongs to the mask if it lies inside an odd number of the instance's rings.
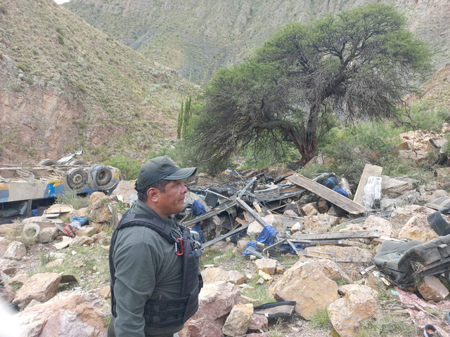
[[[188,192],[181,180],[170,180],[165,187],[165,192],[160,192],[158,209],[160,216],[168,218],[171,214],[176,214],[184,209],[184,194]]]

